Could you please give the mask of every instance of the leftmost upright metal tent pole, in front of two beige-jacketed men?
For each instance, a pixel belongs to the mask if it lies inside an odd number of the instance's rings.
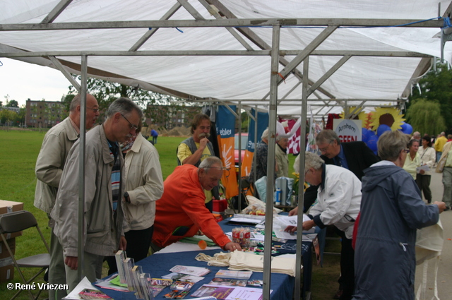
[[[83,241],[84,241],[84,220],[85,220],[85,135],[86,135],[86,93],[88,79],[88,57],[81,57],[82,76],[81,76],[81,102],[80,102],[80,143],[78,160],[78,280],[82,280],[83,275]]]

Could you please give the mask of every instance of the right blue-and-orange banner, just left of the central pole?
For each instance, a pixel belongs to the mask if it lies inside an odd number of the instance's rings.
[[[251,109],[251,115],[256,116],[256,111]],[[254,155],[254,120],[250,119],[248,126],[248,143],[246,144],[246,151],[242,161],[242,177],[248,176],[251,173],[251,163]],[[261,141],[261,136],[264,130],[268,127],[268,112],[258,112],[257,114],[257,142]]]

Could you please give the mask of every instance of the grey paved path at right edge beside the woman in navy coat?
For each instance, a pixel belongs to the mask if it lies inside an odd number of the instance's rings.
[[[432,189],[433,201],[441,201],[443,198],[442,179],[443,174],[432,174],[430,188]],[[441,213],[440,220],[444,228],[444,246],[439,258],[437,279],[438,296],[441,300],[448,300],[452,299],[452,210]],[[430,300],[434,299],[434,259],[429,260],[427,276],[427,292],[425,299]],[[417,292],[417,287],[419,287],[421,280],[422,268],[417,268],[415,292]]]

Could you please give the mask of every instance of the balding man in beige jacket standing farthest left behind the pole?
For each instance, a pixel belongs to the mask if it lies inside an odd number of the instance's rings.
[[[86,95],[86,123],[90,129],[99,116],[99,105],[93,95]],[[36,160],[35,207],[50,214],[54,208],[58,186],[63,173],[64,163],[69,150],[80,135],[81,94],[73,97],[69,107],[69,116],[59,124],[50,128],[44,136],[40,154]],[[53,220],[49,217],[49,227],[53,228]],[[52,230],[50,235],[49,284],[66,284],[64,272],[63,248]],[[61,299],[66,296],[64,289],[49,290],[49,299]]]

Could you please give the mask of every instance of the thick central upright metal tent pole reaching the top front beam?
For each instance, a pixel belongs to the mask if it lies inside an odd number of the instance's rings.
[[[268,112],[268,155],[267,155],[267,199],[266,229],[263,249],[263,300],[270,300],[271,242],[273,232],[273,191],[275,188],[275,137],[278,104],[278,67],[280,48],[280,26],[273,26],[272,55],[270,70],[270,110]],[[256,153],[255,153],[256,154]]]

